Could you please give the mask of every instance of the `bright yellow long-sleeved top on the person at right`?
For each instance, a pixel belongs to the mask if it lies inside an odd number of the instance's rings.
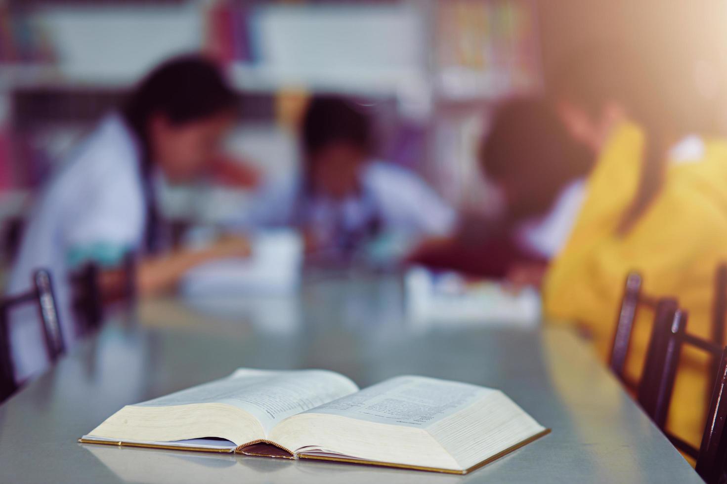
[[[550,320],[584,326],[603,360],[608,358],[630,270],[643,275],[643,290],[677,297],[688,310],[687,331],[710,337],[713,279],[727,261],[727,143],[705,142],[704,156],[669,164],[664,185],[627,235],[616,235],[640,177],[643,132],[619,126],[587,182],[585,203],[568,243],[545,278],[543,299]],[[653,315],[640,314],[632,334],[626,373],[638,380]],[[709,358],[685,348],[667,428],[699,445]]]

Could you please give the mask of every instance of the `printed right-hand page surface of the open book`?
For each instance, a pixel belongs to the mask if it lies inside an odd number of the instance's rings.
[[[490,388],[427,378],[397,376],[317,408],[309,414],[332,414],[382,424],[427,427],[489,395]]]

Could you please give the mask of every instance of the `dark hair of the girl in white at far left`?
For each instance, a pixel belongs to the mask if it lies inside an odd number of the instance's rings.
[[[161,113],[172,124],[186,124],[231,112],[236,101],[235,92],[212,60],[202,55],[182,55],[152,70],[126,101],[123,114],[148,158],[151,116]]]

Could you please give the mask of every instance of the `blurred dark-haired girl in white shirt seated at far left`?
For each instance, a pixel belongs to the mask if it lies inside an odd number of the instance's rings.
[[[66,347],[77,338],[68,276],[82,262],[113,266],[140,254],[140,295],[169,289],[194,265],[246,256],[242,238],[203,250],[163,251],[154,187],[160,177],[188,182],[209,170],[220,139],[235,118],[236,95],[217,67],[194,55],[164,63],[134,90],[124,108],[103,118],[36,203],[9,281],[27,290],[31,273],[47,267],[54,278]],[[33,312],[9,321],[15,379],[22,383],[47,366]]]

